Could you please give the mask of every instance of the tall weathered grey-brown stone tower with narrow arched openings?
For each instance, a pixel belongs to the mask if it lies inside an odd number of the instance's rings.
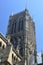
[[[22,57],[20,65],[31,65],[36,48],[35,24],[27,9],[10,16],[6,37]]]

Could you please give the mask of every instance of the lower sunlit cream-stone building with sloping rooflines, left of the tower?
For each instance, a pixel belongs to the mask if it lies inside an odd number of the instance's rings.
[[[21,57],[15,51],[13,45],[9,43],[1,33],[0,42],[0,65],[14,65],[15,63],[19,63],[21,61]]]

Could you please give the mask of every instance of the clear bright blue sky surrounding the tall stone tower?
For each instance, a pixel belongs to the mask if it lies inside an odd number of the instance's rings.
[[[26,0],[0,0],[0,32],[7,31],[9,16],[26,7]],[[27,0],[27,9],[35,22],[37,52],[43,51],[43,0]]]

